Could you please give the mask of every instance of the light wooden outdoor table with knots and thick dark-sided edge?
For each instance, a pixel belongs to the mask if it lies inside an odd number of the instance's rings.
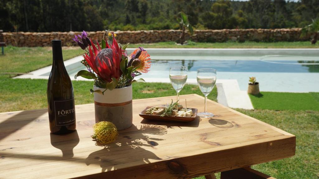
[[[294,135],[210,100],[213,118],[139,117],[145,106],[172,98],[133,100],[133,126],[106,146],[91,138],[93,104],[76,106],[77,132],[63,136],[50,134],[47,109],[0,113],[0,178],[209,178],[295,154]],[[204,97],[185,98],[188,107],[204,110]]]

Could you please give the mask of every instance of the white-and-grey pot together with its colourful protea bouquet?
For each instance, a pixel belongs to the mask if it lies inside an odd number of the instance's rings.
[[[150,55],[141,47],[127,55],[125,49],[118,44],[114,33],[106,31],[108,39],[99,43],[87,37],[83,31],[73,39],[86,51],[81,63],[87,70],[80,70],[74,78],[82,76],[94,80],[95,122],[112,122],[117,130],[129,128],[132,125],[132,83],[145,82],[134,78],[147,73],[151,66]]]

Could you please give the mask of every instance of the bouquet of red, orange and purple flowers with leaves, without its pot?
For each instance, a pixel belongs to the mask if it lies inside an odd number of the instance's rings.
[[[105,40],[105,34],[107,39]],[[130,55],[127,55],[126,47],[117,43],[113,32],[105,31],[101,42],[88,38],[88,34],[83,31],[81,35],[75,35],[74,41],[85,50],[84,60],[81,63],[87,70],[80,70],[74,78],[82,76],[86,79],[93,79],[94,85],[105,89],[93,90],[90,93],[98,92],[104,94],[109,89],[124,88],[130,86],[133,82],[145,82],[142,78],[134,78],[142,73],[147,73],[151,67],[150,55],[142,47],[135,49]]]

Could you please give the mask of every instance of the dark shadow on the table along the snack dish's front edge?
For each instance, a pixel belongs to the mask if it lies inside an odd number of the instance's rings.
[[[182,127],[198,127],[199,122],[202,119],[200,117],[196,117],[195,120],[190,122],[168,122],[168,121],[152,121],[148,119],[143,119],[141,121],[141,124],[151,124],[151,125],[165,125],[167,128],[173,128],[179,127],[182,129]]]

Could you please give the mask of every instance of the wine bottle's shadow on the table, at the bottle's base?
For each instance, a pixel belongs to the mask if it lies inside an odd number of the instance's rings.
[[[51,145],[62,151],[62,159],[73,157],[73,148],[78,145],[80,139],[78,131],[65,135],[55,135],[50,133]]]

